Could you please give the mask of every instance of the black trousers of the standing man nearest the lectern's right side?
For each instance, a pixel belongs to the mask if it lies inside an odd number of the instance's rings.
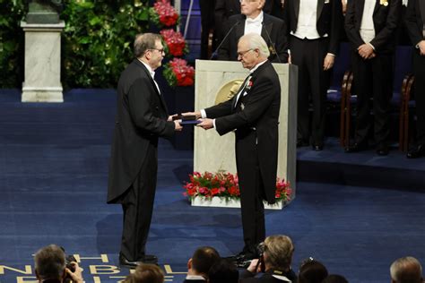
[[[299,39],[291,36],[291,62],[299,70],[297,140],[323,145],[325,137],[326,92],[330,71],[323,70],[329,40]],[[309,102],[313,105],[311,134],[309,131]]]

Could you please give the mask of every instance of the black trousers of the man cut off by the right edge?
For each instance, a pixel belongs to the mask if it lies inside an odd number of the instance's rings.
[[[416,142],[425,145],[425,56],[420,50],[413,50],[413,90],[416,101]]]

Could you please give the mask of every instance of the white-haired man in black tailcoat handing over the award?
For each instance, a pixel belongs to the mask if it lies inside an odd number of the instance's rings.
[[[263,200],[274,203],[278,154],[281,85],[269,49],[256,33],[239,39],[238,59],[250,74],[237,94],[226,102],[188,113],[203,117],[205,130],[223,135],[235,131],[242,227],[245,246],[238,261],[256,257],[256,245],[265,239]]]

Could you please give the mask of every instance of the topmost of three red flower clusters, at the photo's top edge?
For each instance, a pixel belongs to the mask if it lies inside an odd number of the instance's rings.
[[[149,9],[152,21],[159,25],[170,27],[178,24],[180,17],[174,7],[169,4],[169,0],[157,0],[153,7]]]

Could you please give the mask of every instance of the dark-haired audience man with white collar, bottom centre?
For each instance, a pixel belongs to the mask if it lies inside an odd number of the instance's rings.
[[[187,262],[187,276],[184,282],[206,282],[208,271],[215,262],[220,261],[220,254],[211,246],[196,249]]]

